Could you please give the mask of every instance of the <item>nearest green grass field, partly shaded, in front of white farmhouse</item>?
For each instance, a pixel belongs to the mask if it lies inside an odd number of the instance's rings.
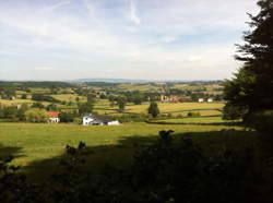
[[[213,132],[235,127],[191,124],[129,123],[119,127],[83,127],[76,124],[0,123],[0,153],[15,155],[13,164],[44,171],[58,168],[54,160],[61,156],[67,144],[84,141],[94,154],[90,155],[93,168],[105,163],[126,165],[136,150],[134,144],[143,140],[155,140],[158,131],[174,130],[176,134],[187,132]],[[238,129],[238,127],[236,127]],[[122,147],[120,147],[122,145]],[[14,152],[13,152],[14,150]],[[122,154],[122,156],[120,156]],[[43,164],[37,164],[43,163]],[[122,164],[121,164],[122,163]]]

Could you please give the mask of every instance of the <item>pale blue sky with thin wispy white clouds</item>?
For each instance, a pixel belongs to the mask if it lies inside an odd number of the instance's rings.
[[[0,0],[0,80],[223,80],[256,0]]]

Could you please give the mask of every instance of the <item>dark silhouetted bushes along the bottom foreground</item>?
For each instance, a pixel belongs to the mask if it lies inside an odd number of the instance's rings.
[[[158,141],[135,154],[132,166],[106,166],[99,174],[83,170],[88,148],[67,145],[60,170],[45,183],[29,183],[24,176],[0,168],[1,202],[116,202],[116,203],[257,203],[271,202],[263,178],[254,169],[253,150],[223,148],[205,155],[190,139],[175,141],[173,131],[161,131]],[[266,183],[265,183],[266,182]],[[264,187],[265,186],[265,187]],[[19,191],[19,192],[17,192]],[[12,201],[11,201],[12,200]]]

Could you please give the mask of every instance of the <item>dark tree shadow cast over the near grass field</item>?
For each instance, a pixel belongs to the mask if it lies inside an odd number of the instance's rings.
[[[180,139],[190,138],[207,155],[215,155],[215,153],[224,152],[227,148],[233,151],[240,151],[246,147],[257,148],[259,145],[256,132],[250,131],[222,130],[175,133],[173,136],[177,142]],[[157,139],[155,135],[123,136],[117,144],[86,146],[86,156],[84,156],[86,162],[82,165],[82,169],[86,172],[99,174],[106,166],[112,166],[117,169],[130,168],[135,153],[155,143]],[[51,175],[64,170],[60,165],[61,160],[68,158],[64,147],[63,154],[48,159],[32,162],[23,167],[23,171],[29,175],[31,179],[35,181],[44,181]]]

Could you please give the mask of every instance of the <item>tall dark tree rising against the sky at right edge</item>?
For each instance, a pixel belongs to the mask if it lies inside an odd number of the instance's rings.
[[[273,2],[260,0],[260,13],[249,15],[251,31],[245,45],[238,45],[237,60],[245,65],[232,81],[225,83],[228,105],[246,109],[248,115],[273,109]]]

